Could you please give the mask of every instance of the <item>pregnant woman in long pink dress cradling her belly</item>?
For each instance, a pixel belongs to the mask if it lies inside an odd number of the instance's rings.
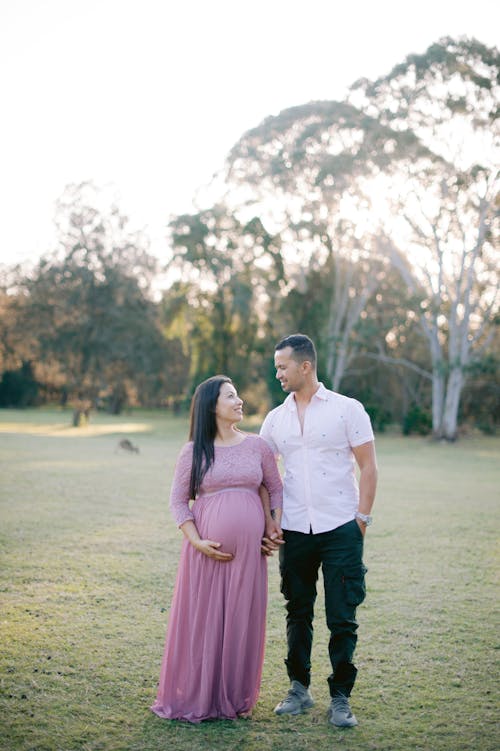
[[[236,427],[242,405],[227,376],[203,381],[175,468],[170,506],[185,539],[151,707],[167,719],[248,717],[259,694],[267,605],[260,545],[264,533],[280,532],[282,485],[267,443]]]

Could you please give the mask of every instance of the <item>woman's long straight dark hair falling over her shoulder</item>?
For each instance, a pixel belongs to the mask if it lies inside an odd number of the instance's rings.
[[[202,381],[191,400],[189,440],[193,441],[193,464],[189,497],[196,498],[200,485],[214,461],[214,441],[217,433],[215,407],[223,383],[232,383],[228,376],[217,375]]]

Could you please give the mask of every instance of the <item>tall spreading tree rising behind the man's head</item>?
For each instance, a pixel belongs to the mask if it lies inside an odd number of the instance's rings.
[[[262,207],[264,221],[279,229],[289,286],[307,286],[321,269],[328,305],[317,333],[335,389],[357,353],[361,314],[387,273],[372,182],[427,155],[411,132],[395,132],[346,102],[285,110],[244,134],[229,155],[229,193],[243,210]]]

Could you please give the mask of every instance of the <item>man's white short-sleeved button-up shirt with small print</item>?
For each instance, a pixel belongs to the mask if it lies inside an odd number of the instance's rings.
[[[267,415],[261,436],[283,459],[283,529],[314,534],[355,518],[359,489],[352,447],[373,441],[363,405],[320,383],[301,431],[294,394]]]

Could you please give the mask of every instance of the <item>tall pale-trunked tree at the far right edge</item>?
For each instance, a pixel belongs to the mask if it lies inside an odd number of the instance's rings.
[[[353,87],[365,112],[413,132],[433,155],[385,182],[382,222],[387,253],[419,298],[433,432],[447,440],[456,438],[462,389],[498,311],[499,61],[474,40],[443,39]]]

